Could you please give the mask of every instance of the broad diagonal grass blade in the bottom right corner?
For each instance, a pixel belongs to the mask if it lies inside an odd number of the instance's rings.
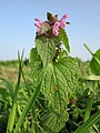
[[[86,133],[88,130],[98,121],[100,121],[100,111],[94,113],[90,119],[88,119],[80,127],[78,127],[73,133]]]

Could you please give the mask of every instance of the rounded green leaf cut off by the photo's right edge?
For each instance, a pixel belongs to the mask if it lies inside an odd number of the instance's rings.
[[[90,69],[94,74],[100,75],[100,49],[93,54]]]

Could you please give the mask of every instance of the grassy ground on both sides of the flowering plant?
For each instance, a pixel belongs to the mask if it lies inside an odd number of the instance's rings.
[[[17,115],[14,113],[11,113],[11,114],[14,114],[16,117],[17,119],[19,117],[19,119],[14,120],[14,116],[12,117],[12,115],[11,115],[11,117],[14,121],[12,120],[12,125],[8,125],[8,127],[11,129],[11,131],[12,131],[12,127],[17,124],[16,129],[14,129],[14,133],[18,133],[19,127],[20,127],[20,130],[22,130],[19,133],[22,133],[27,130],[29,132],[30,131],[33,132],[33,130],[36,127],[38,130],[43,127],[43,125],[41,126],[41,124],[38,124],[39,121],[37,120],[37,117],[41,116],[40,112],[41,112],[42,108],[44,108],[44,106],[42,106],[42,105],[44,105],[44,103],[42,103],[43,102],[42,100],[40,100],[40,101],[37,100],[37,102],[36,102],[36,99],[37,99],[37,95],[38,95],[40,89],[37,88],[36,91],[33,90],[33,84],[31,82],[30,63],[28,63],[27,60],[24,60],[23,63],[24,63],[24,65],[22,66],[22,71],[23,71],[26,78],[22,75],[22,72],[21,72],[22,78],[20,80],[20,86],[18,86],[17,85],[18,74],[19,74],[18,60],[17,61],[16,60],[14,61],[0,61],[0,79],[6,79],[7,86],[8,86],[8,88],[6,86],[8,90],[3,90],[3,92],[1,90],[2,95],[3,95],[3,93],[6,93],[7,96],[6,96],[4,101],[1,101],[4,103],[0,103],[1,104],[0,122],[6,123],[6,126],[7,126],[7,121],[8,121],[7,116],[9,116],[9,109],[11,109],[11,110],[13,109],[12,112],[14,111],[17,113]],[[89,74],[90,73],[89,62],[82,62],[79,60],[79,69],[80,69],[80,72],[82,75],[86,73]],[[6,82],[4,82],[4,80],[0,80],[0,88],[1,88],[1,84],[4,86]],[[100,131],[100,126],[99,126],[100,111],[98,111],[98,108],[99,108],[98,101],[100,101],[100,99],[99,99],[100,93],[96,92],[96,91],[98,91],[98,88],[100,86],[99,83],[100,82],[96,82],[96,81],[87,81],[87,80],[83,81],[83,79],[82,79],[82,81],[80,81],[80,84],[81,84],[80,90],[81,91],[78,92],[79,100],[77,101],[76,104],[73,104],[73,103],[69,104],[69,108],[68,108],[69,109],[69,111],[68,111],[69,120],[60,133],[66,133],[68,131],[69,131],[69,133],[71,133],[71,131],[72,132],[74,131],[74,133],[79,133],[79,132],[87,133],[88,129],[90,129],[90,127],[92,127],[91,129],[92,131],[94,130],[94,133],[96,132],[99,133],[99,131]],[[14,95],[16,95],[16,93],[14,93],[16,89],[20,88],[18,98],[17,98],[18,105],[16,104],[16,102],[14,102],[14,104],[12,103],[14,98],[13,98],[13,94],[11,93],[11,88],[13,88],[12,92]],[[87,88],[89,88],[89,90]],[[34,92],[34,93],[32,93],[32,92]],[[90,93],[93,94],[93,98],[91,98]],[[10,94],[12,94],[12,95],[10,95]],[[83,98],[83,94],[84,94],[84,98]],[[39,98],[40,96],[41,95],[39,95]],[[43,98],[43,96],[41,96],[41,98]],[[1,100],[3,100],[3,99],[1,99]],[[33,102],[37,103],[36,110],[32,106]],[[3,104],[3,106],[2,106],[2,104]],[[14,108],[14,105],[16,105],[16,108]],[[40,105],[42,108],[40,108]],[[13,108],[11,108],[11,106],[13,106]],[[2,113],[4,113],[4,114],[2,115]],[[36,115],[37,117],[33,117],[33,115]],[[29,120],[29,117],[30,117],[30,120]],[[33,119],[33,121],[32,121],[32,119]],[[11,119],[9,121],[11,122]],[[32,123],[33,127],[29,125],[29,123],[31,121],[33,122]],[[98,124],[97,124],[97,122],[98,122]],[[4,124],[2,124],[2,123],[0,123],[0,126],[3,131],[3,129],[6,129],[6,127],[4,127]],[[34,123],[37,123],[37,124],[34,124]],[[23,129],[21,129],[21,126]],[[43,131],[43,129],[41,129],[41,130]],[[3,133],[2,131],[0,131],[0,133]],[[89,133],[91,131],[89,131]],[[40,133],[40,130],[38,133]]]

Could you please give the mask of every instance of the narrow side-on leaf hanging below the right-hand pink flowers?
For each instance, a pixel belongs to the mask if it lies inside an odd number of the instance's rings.
[[[59,37],[60,37],[61,41],[63,42],[67,51],[70,53],[69,39],[68,39],[68,35],[67,35],[64,29],[61,29]]]

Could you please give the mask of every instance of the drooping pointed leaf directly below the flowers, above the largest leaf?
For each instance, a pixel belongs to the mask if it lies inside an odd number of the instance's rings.
[[[40,55],[43,62],[43,66],[52,62],[52,59],[56,53],[53,39],[47,38],[43,34],[39,35],[36,38],[36,47],[37,47],[38,54]]]

